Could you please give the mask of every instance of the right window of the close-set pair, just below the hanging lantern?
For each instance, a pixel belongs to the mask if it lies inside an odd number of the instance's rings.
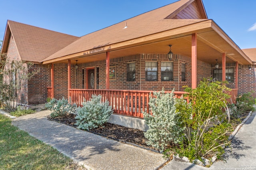
[[[162,81],[173,80],[173,63],[172,62],[161,63],[161,80]]]

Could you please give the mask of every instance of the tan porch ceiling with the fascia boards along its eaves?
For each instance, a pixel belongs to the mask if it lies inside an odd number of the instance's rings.
[[[252,64],[252,61],[212,20],[44,61],[44,64],[67,62],[68,59],[72,64],[76,63],[75,60],[78,60],[78,63],[105,60],[106,51],[110,51],[110,59],[143,53],[167,54],[168,45],[172,45],[174,54],[191,57],[192,33],[197,33],[198,60],[214,64],[218,59],[221,63],[222,53],[226,53],[226,63],[238,61],[239,64]]]

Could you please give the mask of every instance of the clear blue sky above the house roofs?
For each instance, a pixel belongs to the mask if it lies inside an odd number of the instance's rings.
[[[177,0],[0,0],[7,20],[82,36]],[[256,0],[203,0],[206,14],[241,48],[256,48]]]

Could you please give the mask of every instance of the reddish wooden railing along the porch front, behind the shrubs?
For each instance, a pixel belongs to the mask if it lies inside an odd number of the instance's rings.
[[[92,94],[102,95],[102,102],[108,100],[114,113],[143,118],[143,112],[150,112],[148,105],[150,92],[146,90],[89,90],[68,89],[71,101],[77,106],[82,106],[84,100],[88,101]],[[180,98],[186,92],[174,92]],[[186,101],[189,102],[188,98]]]

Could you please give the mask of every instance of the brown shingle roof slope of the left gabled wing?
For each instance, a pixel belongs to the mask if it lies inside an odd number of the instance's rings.
[[[23,61],[40,62],[79,39],[72,35],[10,20],[7,21],[7,25]]]

